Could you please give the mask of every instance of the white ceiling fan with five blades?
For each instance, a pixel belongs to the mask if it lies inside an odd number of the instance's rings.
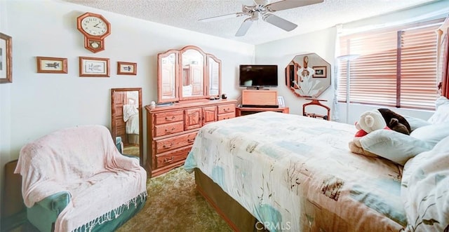
[[[311,4],[319,4],[324,0],[282,0],[276,1],[271,4],[269,3],[269,0],[246,0],[246,2],[248,1],[250,1],[250,5],[243,4],[241,12],[203,18],[199,21],[210,22],[213,20],[221,20],[225,18],[248,16],[248,18],[243,21],[239,30],[237,30],[236,32],[236,36],[244,36],[246,32],[248,32],[248,29],[253,24],[253,22],[259,20],[259,18],[261,17],[265,22],[269,22],[276,27],[290,32],[291,30],[295,29],[297,25],[295,25],[295,23],[293,22],[274,15],[274,12],[283,11],[290,8],[297,8],[300,6],[308,6]]]

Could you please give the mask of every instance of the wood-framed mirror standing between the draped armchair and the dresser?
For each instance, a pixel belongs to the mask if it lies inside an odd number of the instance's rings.
[[[143,167],[142,88],[113,88],[111,96],[112,139],[121,153],[138,156]]]

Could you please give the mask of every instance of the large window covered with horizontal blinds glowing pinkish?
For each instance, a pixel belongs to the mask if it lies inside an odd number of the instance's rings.
[[[340,37],[338,101],[385,107],[434,109],[436,29],[443,19]]]

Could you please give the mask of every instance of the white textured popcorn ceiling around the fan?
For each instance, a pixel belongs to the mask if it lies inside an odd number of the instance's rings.
[[[164,25],[189,29],[195,32],[233,39],[243,43],[260,44],[333,27],[340,23],[370,18],[375,15],[399,11],[434,0],[324,0],[321,4],[302,6],[275,15],[298,25],[285,32],[259,19],[251,25],[245,36],[236,37],[247,17],[227,18],[211,22],[199,19],[241,12],[248,0],[62,0],[98,8],[104,11],[128,15]],[[250,1],[250,0],[249,0]],[[260,0],[255,0],[260,1]],[[272,0],[272,2],[278,0]],[[290,0],[302,1],[302,0]]]

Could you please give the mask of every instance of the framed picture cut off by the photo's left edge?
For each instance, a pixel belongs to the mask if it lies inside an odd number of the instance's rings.
[[[13,38],[0,32],[0,83],[13,82]]]

